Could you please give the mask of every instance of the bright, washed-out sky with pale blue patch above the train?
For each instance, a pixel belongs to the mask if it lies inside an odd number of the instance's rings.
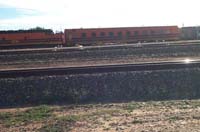
[[[0,30],[198,26],[199,0],[0,0]]]

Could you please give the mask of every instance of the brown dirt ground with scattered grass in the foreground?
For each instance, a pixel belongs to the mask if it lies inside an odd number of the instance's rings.
[[[1,132],[198,132],[200,100],[0,109]]]

